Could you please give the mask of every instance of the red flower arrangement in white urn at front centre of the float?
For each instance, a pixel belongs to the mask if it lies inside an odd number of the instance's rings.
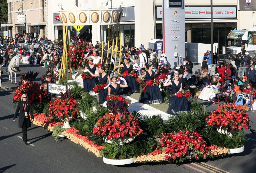
[[[93,128],[93,134],[111,138],[120,138],[124,136],[139,136],[142,133],[136,116],[130,114],[107,114],[98,120],[96,127]]]

